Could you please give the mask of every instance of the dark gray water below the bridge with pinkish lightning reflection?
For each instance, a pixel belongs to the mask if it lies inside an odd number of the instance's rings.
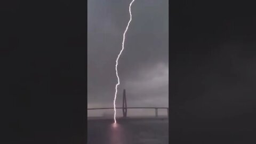
[[[88,144],[167,144],[167,119],[126,119],[87,122]]]

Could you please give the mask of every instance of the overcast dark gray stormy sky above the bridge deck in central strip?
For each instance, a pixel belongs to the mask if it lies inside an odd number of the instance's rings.
[[[87,25],[87,106],[113,107],[115,60],[129,21],[127,0],[89,0]],[[168,1],[135,0],[132,21],[119,58],[121,84],[117,106],[126,89],[127,106],[168,107]]]

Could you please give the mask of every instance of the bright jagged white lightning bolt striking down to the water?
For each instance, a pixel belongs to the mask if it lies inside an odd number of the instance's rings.
[[[117,84],[116,84],[116,92],[115,92],[115,98],[114,98],[114,120],[115,120],[115,123],[116,123],[116,94],[117,94],[117,87],[118,85],[120,84],[120,81],[119,81],[119,76],[118,76],[118,71],[117,71],[117,66],[118,66],[118,59],[120,57],[120,55],[122,54],[123,50],[124,50],[124,40],[125,40],[125,34],[126,34],[126,31],[128,30],[129,28],[129,25],[130,25],[130,22],[132,21],[132,13],[131,13],[131,6],[132,6],[132,3],[134,2],[134,0],[132,0],[132,2],[130,3],[130,6],[129,6],[129,12],[130,12],[130,20],[126,26],[126,29],[124,31],[124,34],[123,34],[123,42],[122,42],[122,50],[120,51],[120,53],[118,54],[117,56],[117,59],[116,59],[116,77],[117,77]]]

